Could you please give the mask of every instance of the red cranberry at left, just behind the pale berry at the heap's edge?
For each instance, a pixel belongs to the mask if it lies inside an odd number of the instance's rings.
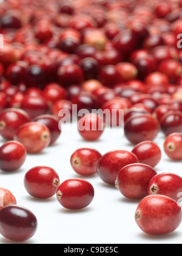
[[[49,103],[42,96],[27,95],[21,103],[21,109],[27,112],[31,118],[35,118],[49,112]]]

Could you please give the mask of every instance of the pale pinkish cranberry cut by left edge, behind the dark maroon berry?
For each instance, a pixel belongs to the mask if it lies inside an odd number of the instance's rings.
[[[7,205],[16,204],[16,198],[6,188],[0,188],[0,202],[0,210],[2,210]]]

